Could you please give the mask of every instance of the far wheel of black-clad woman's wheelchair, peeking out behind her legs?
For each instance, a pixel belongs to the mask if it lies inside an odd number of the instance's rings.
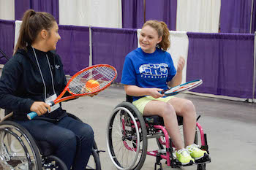
[[[101,165],[99,161],[99,152],[98,152],[97,144],[95,141],[94,141],[93,149],[91,151],[89,162],[87,163],[87,166],[86,166],[86,170],[87,169],[101,170]]]

